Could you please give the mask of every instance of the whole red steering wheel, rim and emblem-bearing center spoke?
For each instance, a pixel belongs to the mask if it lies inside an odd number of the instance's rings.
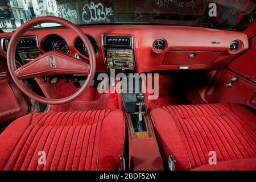
[[[31,27],[41,23],[62,24],[63,26],[75,31],[76,34],[78,34],[79,37],[82,39],[82,42],[84,42],[86,49],[88,50],[90,64],[79,61],[73,56],[63,52],[49,51],[47,53],[44,53],[43,55],[40,55],[30,63],[27,63],[22,67],[16,69],[15,51],[19,39]],[[93,51],[92,44],[90,43],[85,33],[82,32],[79,27],[69,22],[68,20],[57,18],[54,16],[33,18],[28,22],[22,24],[22,26],[20,26],[18,30],[14,32],[7,49],[7,64],[11,77],[13,78],[18,88],[22,90],[24,94],[38,102],[51,105],[65,104],[81,96],[81,94],[84,93],[85,90],[88,89],[88,87],[90,86],[90,83],[92,82],[96,71],[96,57]],[[45,98],[39,96],[38,94],[32,92],[32,90],[28,89],[22,81],[22,79],[26,78],[73,74],[87,75],[85,84],[76,93],[72,94],[69,97],[60,99]]]

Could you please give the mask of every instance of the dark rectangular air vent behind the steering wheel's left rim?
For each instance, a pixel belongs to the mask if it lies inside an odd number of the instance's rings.
[[[2,49],[3,51],[7,51],[8,44],[11,38],[3,38],[2,40]],[[36,37],[23,37],[20,38],[17,48],[38,48],[38,40]]]

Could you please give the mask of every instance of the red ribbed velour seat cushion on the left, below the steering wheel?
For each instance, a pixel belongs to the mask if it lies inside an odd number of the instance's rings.
[[[0,135],[0,169],[118,170],[124,138],[121,110],[30,114]]]

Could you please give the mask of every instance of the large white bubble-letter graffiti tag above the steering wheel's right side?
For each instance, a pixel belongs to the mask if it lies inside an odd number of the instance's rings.
[[[112,7],[104,7],[102,3],[86,3],[82,10],[82,20],[86,23],[100,21],[109,23],[110,18],[114,15]]]

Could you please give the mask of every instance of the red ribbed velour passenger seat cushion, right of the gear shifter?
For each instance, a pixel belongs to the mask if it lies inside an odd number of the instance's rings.
[[[256,116],[237,104],[162,106],[150,111],[164,162],[174,155],[176,169],[256,157]],[[255,164],[256,165],[256,164]],[[238,168],[239,170],[239,168]]]

